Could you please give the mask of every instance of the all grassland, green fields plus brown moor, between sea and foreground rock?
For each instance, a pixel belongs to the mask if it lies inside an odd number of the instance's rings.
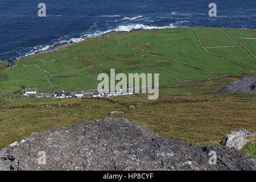
[[[38,92],[96,89],[98,74],[109,75],[115,68],[115,73],[126,75],[159,73],[159,98],[0,96],[0,149],[31,133],[102,119],[114,110],[121,112],[113,117],[128,118],[162,137],[187,143],[215,144],[235,129],[256,131],[255,94],[218,92],[231,81],[256,76],[256,57],[246,51],[256,54],[254,38],[254,30],[232,28],[113,32],[16,60],[13,67],[0,71],[2,94],[23,93],[23,86]],[[242,152],[255,158],[254,140]]]

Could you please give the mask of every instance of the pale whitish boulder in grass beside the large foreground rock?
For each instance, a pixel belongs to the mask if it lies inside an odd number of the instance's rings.
[[[220,144],[223,146],[234,147],[237,148],[238,150],[241,150],[243,146],[245,146],[245,144],[249,142],[249,140],[246,139],[246,137],[255,135],[255,132],[251,132],[246,129],[233,130],[230,132],[230,135],[226,135],[221,140]]]

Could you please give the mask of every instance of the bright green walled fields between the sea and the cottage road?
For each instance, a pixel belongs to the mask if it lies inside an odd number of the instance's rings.
[[[226,31],[236,38],[256,37],[254,30]],[[256,40],[238,40],[255,53]],[[222,28],[114,32],[16,60],[14,67],[0,72],[0,92],[17,93],[20,85],[45,92],[96,89],[97,75],[109,74],[110,68],[116,73],[159,73],[160,84],[167,84],[248,72],[255,67],[256,58]]]

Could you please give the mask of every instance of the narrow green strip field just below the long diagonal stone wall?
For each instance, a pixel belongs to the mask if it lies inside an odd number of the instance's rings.
[[[110,45],[113,45],[113,47]],[[119,47],[121,47],[123,51],[120,51]],[[111,42],[108,46],[99,49],[112,59],[122,61],[122,63],[127,63],[123,65],[124,67],[127,67],[127,65],[133,65],[137,68],[159,73],[163,76],[177,78],[179,80],[191,80],[213,76],[212,74],[185,67],[182,64],[174,63],[170,60],[163,59],[162,57],[153,56],[150,53],[138,52],[130,47],[114,42]],[[112,49],[114,49],[114,51],[112,51]],[[131,56],[129,57],[129,55]]]

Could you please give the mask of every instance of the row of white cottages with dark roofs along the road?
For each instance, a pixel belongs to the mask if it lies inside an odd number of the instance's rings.
[[[125,92],[126,91],[126,92]],[[104,92],[99,93],[98,91],[90,93],[91,97],[110,97],[110,96],[124,96],[124,95],[131,95],[133,94],[132,91],[129,89],[127,90],[119,90],[118,92],[109,92],[109,90],[104,90]],[[25,88],[25,93],[23,94],[24,97],[30,97],[34,96],[36,98],[41,98],[41,97],[53,97],[53,98],[68,98],[68,97],[77,97],[77,98],[82,98],[84,97],[84,92],[79,91],[79,92],[65,92],[63,91],[58,91],[52,93],[37,93],[36,88]]]

